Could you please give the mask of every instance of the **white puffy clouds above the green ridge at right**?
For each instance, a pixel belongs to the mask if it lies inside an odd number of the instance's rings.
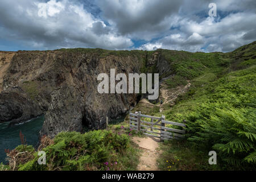
[[[185,51],[233,51],[256,40],[255,13],[230,13],[222,19],[208,17],[200,22],[190,18],[179,18],[176,27],[179,31],[170,31],[169,36],[151,44],[160,44],[161,48]],[[175,32],[179,32],[175,34]],[[144,45],[141,48],[148,48]]]

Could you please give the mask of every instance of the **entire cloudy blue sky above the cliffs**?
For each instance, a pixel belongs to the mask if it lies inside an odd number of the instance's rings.
[[[0,50],[228,52],[256,40],[255,12],[255,0],[0,0]]]

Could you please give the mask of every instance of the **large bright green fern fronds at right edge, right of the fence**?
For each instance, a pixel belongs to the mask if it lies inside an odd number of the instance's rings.
[[[188,138],[202,148],[212,148],[220,153],[220,159],[234,166],[250,166],[255,160],[255,111],[245,108],[225,107],[219,103],[204,105],[211,111],[192,115],[195,124],[188,124],[193,134]],[[204,110],[199,107],[200,112]],[[200,113],[199,112],[199,113]],[[203,119],[201,119],[203,118]],[[192,129],[191,129],[192,128]],[[247,163],[247,164],[246,164]]]

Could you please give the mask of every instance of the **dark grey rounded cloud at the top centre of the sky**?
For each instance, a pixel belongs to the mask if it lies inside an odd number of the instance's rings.
[[[97,0],[102,17],[122,35],[150,40],[167,31],[182,0]]]

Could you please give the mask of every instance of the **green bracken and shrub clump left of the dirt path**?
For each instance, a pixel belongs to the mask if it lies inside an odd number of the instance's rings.
[[[115,164],[107,169],[125,169],[117,164],[118,159],[134,158],[137,152],[131,150],[127,134],[118,135],[112,131],[89,131],[85,134],[62,132],[56,135],[54,143],[43,148],[46,165],[39,165],[37,152],[34,159],[19,166],[19,170],[105,170],[106,162]],[[134,164],[135,165],[135,164]],[[133,166],[135,167],[135,166]]]

